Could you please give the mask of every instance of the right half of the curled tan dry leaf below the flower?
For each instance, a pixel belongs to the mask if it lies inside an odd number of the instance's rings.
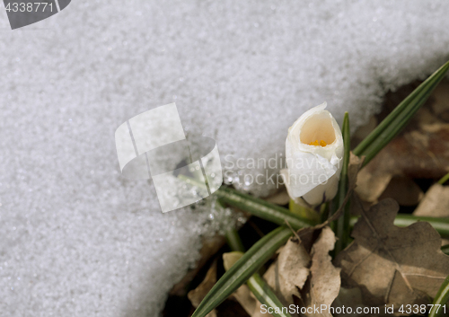
[[[313,244],[311,276],[301,290],[305,307],[321,307],[322,304],[330,307],[339,295],[340,269],[332,265],[332,258],[329,255],[329,252],[334,249],[335,241],[335,234],[327,226],[321,230],[318,240]],[[329,311],[316,314],[313,310],[313,313],[306,314],[310,317],[332,316]]]

